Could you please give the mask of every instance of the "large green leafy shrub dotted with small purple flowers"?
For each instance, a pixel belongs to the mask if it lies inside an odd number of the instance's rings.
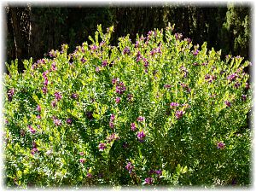
[[[240,56],[173,26],[67,44],[5,74],[7,186],[248,185],[252,94]]]

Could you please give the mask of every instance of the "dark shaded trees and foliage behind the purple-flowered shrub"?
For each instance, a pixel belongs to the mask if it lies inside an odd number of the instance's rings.
[[[42,58],[50,49],[69,44],[70,50],[87,41],[96,25],[114,26],[110,43],[130,34],[144,34],[154,28],[175,24],[176,32],[191,38],[193,44],[207,42],[222,49],[222,56],[241,55],[249,59],[250,13],[246,4],[199,7],[195,4],[168,4],[158,7],[81,7],[56,8],[31,5],[6,7],[7,61]],[[22,62],[19,70],[24,69]]]

